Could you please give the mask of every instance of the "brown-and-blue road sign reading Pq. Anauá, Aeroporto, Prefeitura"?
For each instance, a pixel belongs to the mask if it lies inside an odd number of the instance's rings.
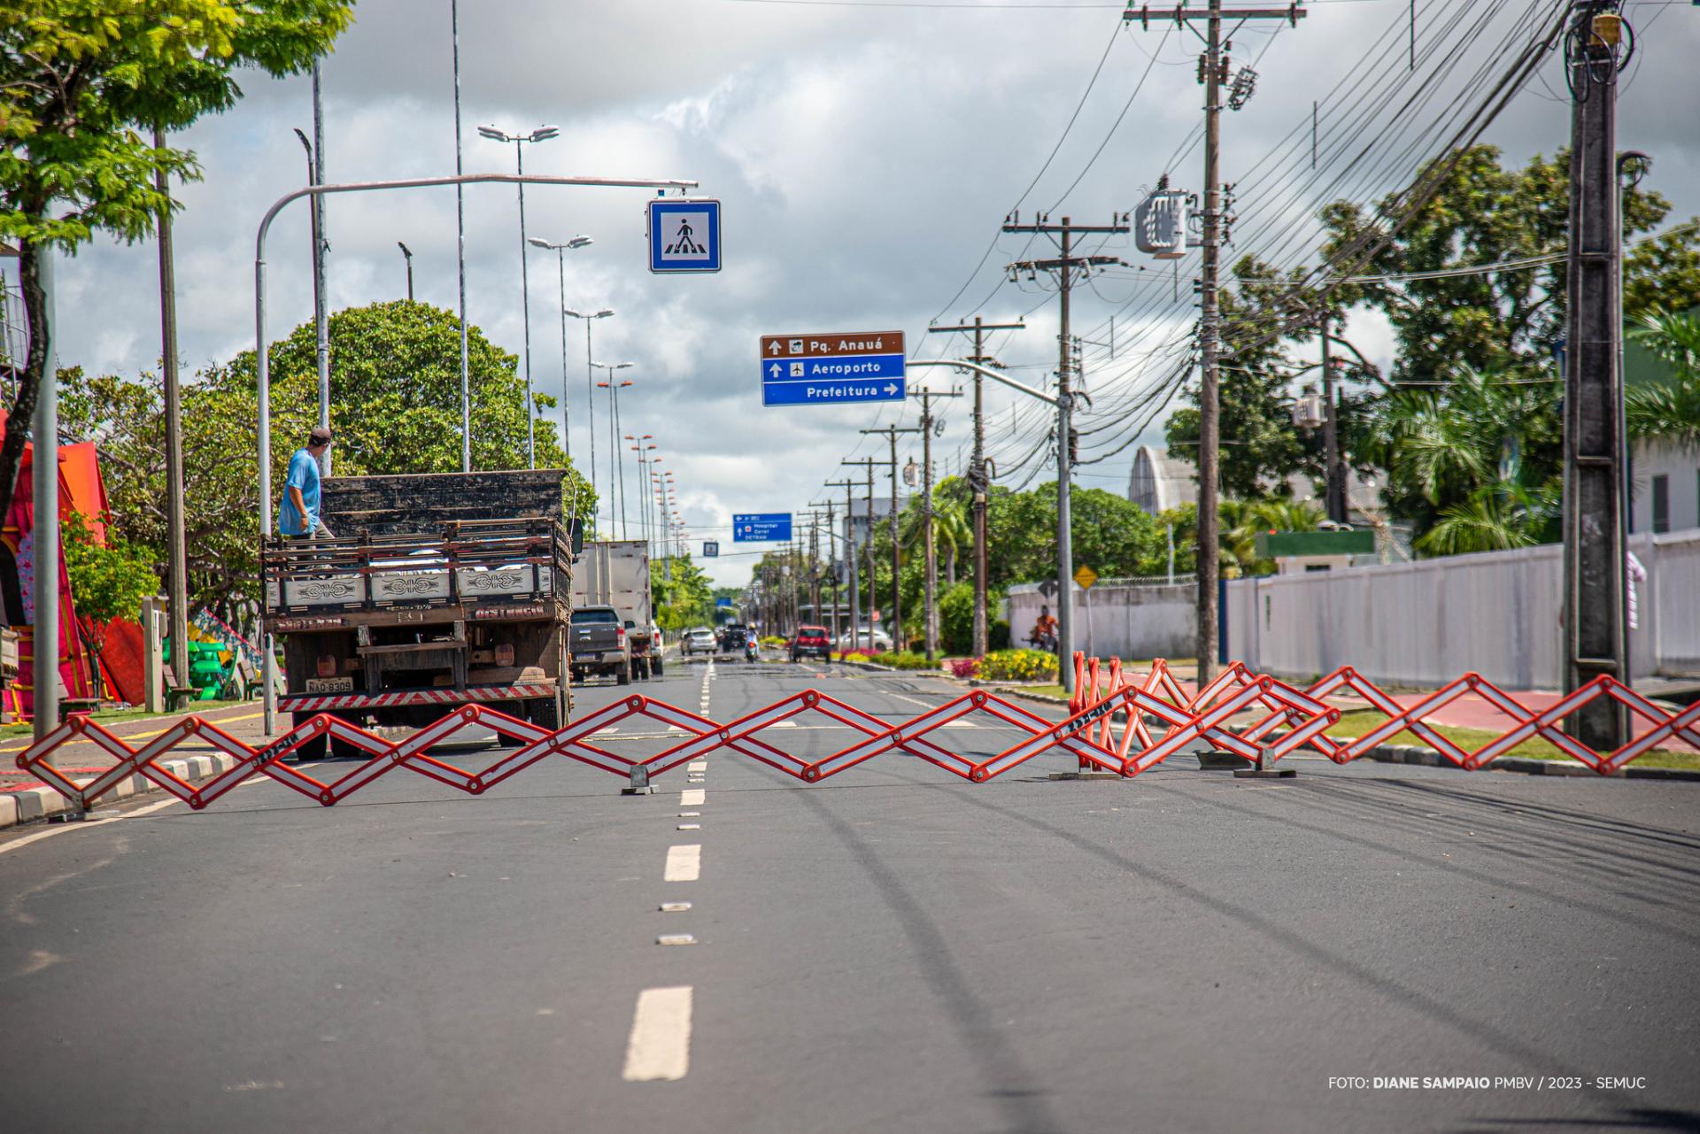
[[[763,335],[762,405],[903,401],[903,332]]]

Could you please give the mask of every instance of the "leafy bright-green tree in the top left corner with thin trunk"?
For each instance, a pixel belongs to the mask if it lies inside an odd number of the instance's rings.
[[[136,241],[175,209],[156,179],[199,177],[194,153],[155,146],[226,111],[236,68],[291,75],[330,51],[352,0],[0,0],[0,236],[19,245],[29,352],[17,372],[0,500],[48,371],[41,258],[107,233]]]

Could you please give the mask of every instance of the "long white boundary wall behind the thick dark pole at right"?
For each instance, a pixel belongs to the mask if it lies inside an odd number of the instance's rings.
[[[1649,580],[1630,673],[1700,673],[1700,530],[1629,541]],[[1372,682],[1442,685],[1476,672],[1559,689],[1559,546],[1227,585],[1229,656],[1306,680],[1352,665]]]

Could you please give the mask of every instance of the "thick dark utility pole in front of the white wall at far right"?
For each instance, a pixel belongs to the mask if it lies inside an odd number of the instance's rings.
[[[1571,88],[1569,326],[1564,366],[1564,689],[1629,683],[1624,588],[1624,376],[1618,369],[1617,0],[1574,0],[1564,41]],[[1596,751],[1629,740],[1624,707],[1598,697],[1566,721]]]

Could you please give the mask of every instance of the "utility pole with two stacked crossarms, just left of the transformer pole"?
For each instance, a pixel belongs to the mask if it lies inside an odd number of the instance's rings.
[[[1219,3],[1221,0],[1212,0]],[[1061,328],[1057,330],[1057,673],[1062,678],[1062,689],[1069,694],[1074,692],[1074,532],[1073,519],[1069,513],[1069,479],[1074,474],[1074,427],[1071,418],[1074,413],[1074,389],[1071,383],[1074,350],[1073,337],[1069,335],[1069,291],[1074,284],[1086,275],[1095,267],[1120,264],[1120,257],[1078,257],[1074,255],[1074,236],[1086,233],[1127,233],[1127,221],[1122,216],[1114,216],[1110,224],[1074,224],[1069,218],[1062,218],[1062,224],[1051,224],[1049,218],[1040,216],[1034,224],[1022,224],[1020,218],[1010,218],[1005,223],[1003,231],[1006,233],[1046,233],[1051,236],[1059,236],[1057,247],[1062,255],[1052,260],[1018,260],[1008,265],[1010,277],[1013,279],[1020,272],[1034,275],[1037,272],[1049,272],[1057,281],[1057,298],[1061,308]],[[1078,274],[1078,275],[1076,275]],[[1198,510],[1200,524],[1204,510]],[[1212,619],[1214,607],[1212,607]]]

